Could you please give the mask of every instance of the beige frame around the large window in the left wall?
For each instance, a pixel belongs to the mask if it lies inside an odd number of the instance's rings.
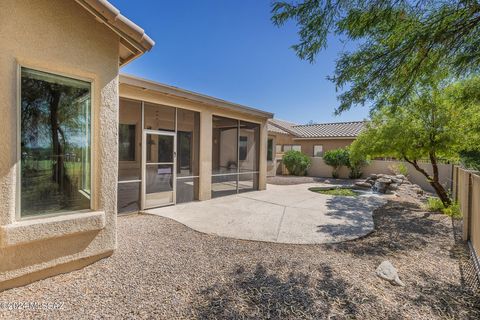
[[[39,72],[49,73],[59,77],[66,77],[71,78],[74,80],[84,81],[90,83],[90,208],[89,209],[82,209],[82,210],[73,210],[73,211],[63,211],[63,212],[52,212],[52,213],[45,213],[39,215],[32,215],[32,216],[25,216],[22,217],[22,170],[21,170],[21,161],[22,161],[22,68],[31,69]],[[17,62],[17,70],[16,70],[16,162],[15,162],[15,171],[16,171],[16,183],[15,183],[15,221],[25,221],[25,220],[39,220],[57,216],[68,216],[72,214],[78,213],[86,213],[86,212],[95,212],[95,203],[96,203],[96,186],[94,180],[94,172],[96,169],[96,164],[93,157],[93,150],[96,149],[96,141],[95,141],[95,128],[96,124],[95,121],[97,119],[97,111],[95,108],[96,99],[96,79],[93,75],[91,76],[82,76],[77,73],[65,72],[60,69],[52,69],[50,67],[43,67],[37,64],[29,64],[25,62]],[[84,192],[80,190],[80,192]]]

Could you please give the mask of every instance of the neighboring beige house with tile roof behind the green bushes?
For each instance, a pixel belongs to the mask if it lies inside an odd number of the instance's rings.
[[[285,174],[281,165],[288,150],[310,157],[322,157],[328,150],[349,146],[365,126],[365,121],[299,125],[278,119],[268,120],[268,175]]]

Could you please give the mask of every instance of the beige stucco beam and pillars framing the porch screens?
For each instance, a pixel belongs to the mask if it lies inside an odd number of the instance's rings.
[[[184,98],[166,95],[153,90],[142,90],[135,86],[120,83],[120,96],[127,99],[151,102],[176,108],[200,112],[200,170],[199,170],[199,200],[211,198],[212,175],[212,117],[214,115],[233,118],[260,125],[259,147],[259,189],[266,188],[267,177],[267,119],[237,112],[215,105],[207,105]]]

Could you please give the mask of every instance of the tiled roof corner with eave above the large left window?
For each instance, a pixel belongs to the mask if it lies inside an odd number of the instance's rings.
[[[119,64],[127,64],[149,51],[155,42],[138,25],[123,16],[120,11],[106,0],[75,0],[97,21],[105,24],[120,36]]]

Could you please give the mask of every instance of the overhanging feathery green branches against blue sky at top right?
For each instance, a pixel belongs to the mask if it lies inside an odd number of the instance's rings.
[[[299,42],[293,49],[314,62],[335,34],[358,44],[342,52],[331,81],[340,113],[373,101],[403,106],[439,74],[457,78],[480,69],[478,1],[299,0],[275,1],[272,21],[293,20]]]

